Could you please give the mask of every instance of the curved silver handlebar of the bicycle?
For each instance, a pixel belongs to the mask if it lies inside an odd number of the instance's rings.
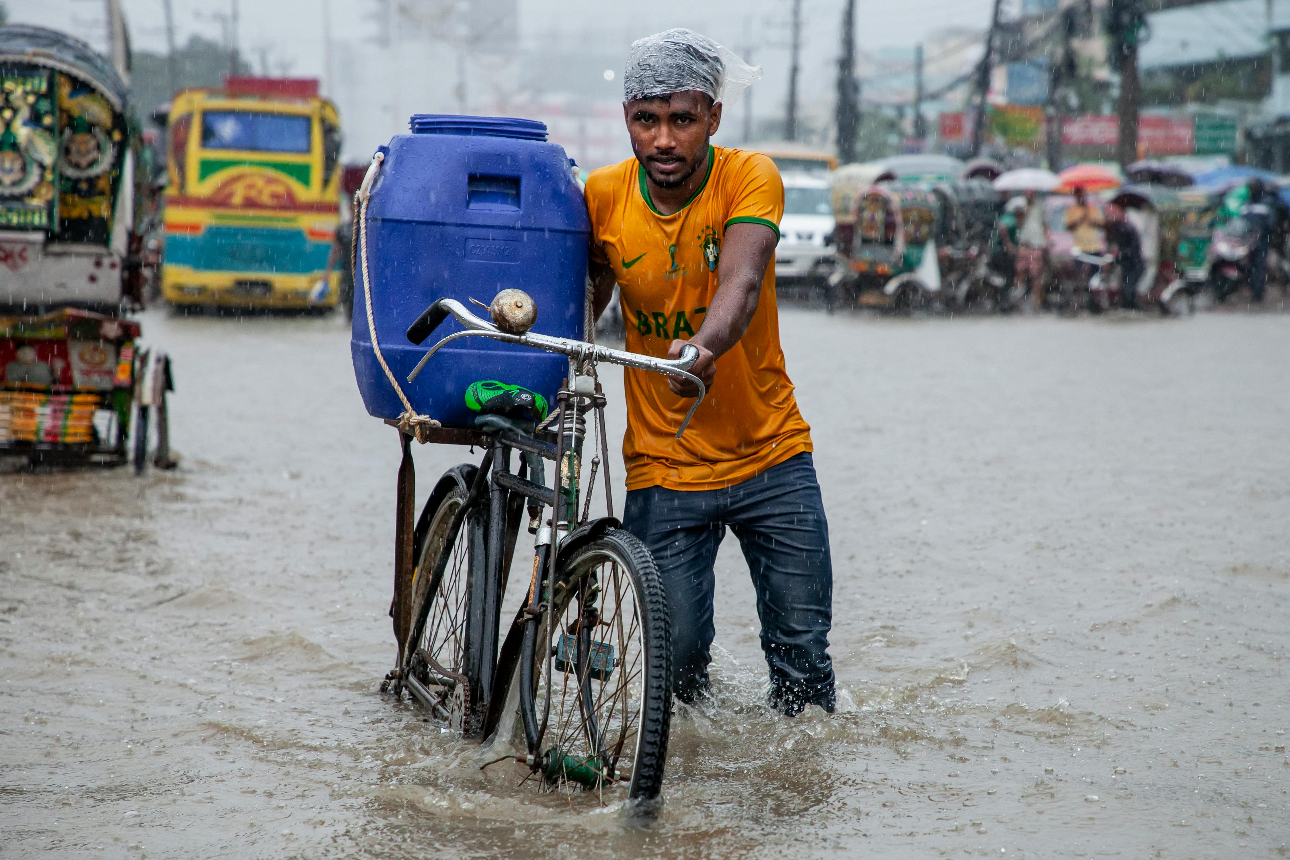
[[[475,316],[466,309],[466,306],[455,299],[437,299],[433,304],[426,308],[424,312],[417,317],[417,321],[408,326],[408,339],[419,346],[426,340],[426,338],[433,334],[435,329],[437,329],[449,315],[466,326],[466,330],[454,331],[431,347],[430,351],[422,356],[422,360],[417,364],[417,366],[413,367],[413,371],[408,374],[409,383],[417,378],[422,367],[426,366],[426,362],[430,361],[430,357],[439,352],[444,346],[461,338],[482,337],[493,338],[494,340],[501,340],[503,343],[519,343],[520,346],[531,347],[534,349],[557,352],[560,355],[569,356],[570,358],[577,358],[578,361],[605,361],[611,365],[636,367],[637,370],[650,370],[653,373],[660,373],[666,376],[676,376],[677,379],[686,379],[694,383],[699,389],[699,396],[694,400],[694,405],[690,406],[690,411],[685,414],[685,420],[681,422],[681,427],[676,431],[676,438],[681,438],[681,433],[685,432],[685,428],[690,424],[690,419],[694,418],[694,411],[707,396],[707,387],[703,384],[703,380],[689,373],[690,367],[694,366],[694,362],[699,360],[699,349],[691,343],[681,347],[680,358],[655,358],[637,352],[610,349],[595,343],[587,343],[586,340],[555,338],[546,334],[533,334],[531,331],[525,331],[524,334],[511,334],[508,331],[503,331],[493,322]]]

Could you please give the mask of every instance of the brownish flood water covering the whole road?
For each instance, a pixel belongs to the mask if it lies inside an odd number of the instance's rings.
[[[841,708],[761,705],[728,539],[636,829],[378,692],[399,449],[343,321],[148,313],[181,468],[0,476],[0,856],[1285,856],[1290,317],[782,329]]]

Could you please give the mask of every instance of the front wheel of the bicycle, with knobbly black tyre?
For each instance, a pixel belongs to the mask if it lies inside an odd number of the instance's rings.
[[[658,796],[672,717],[667,597],[649,549],[620,529],[562,565],[535,705],[538,766],[556,790]]]

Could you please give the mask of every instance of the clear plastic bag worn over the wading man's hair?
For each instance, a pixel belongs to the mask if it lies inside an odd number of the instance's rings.
[[[760,66],[749,66],[707,36],[667,30],[632,43],[623,73],[623,97],[657,98],[693,89],[713,102],[734,104],[759,77]]]

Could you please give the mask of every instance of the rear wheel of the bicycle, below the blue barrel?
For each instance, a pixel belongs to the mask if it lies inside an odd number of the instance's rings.
[[[461,731],[468,731],[480,705],[471,700],[479,679],[471,678],[466,668],[470,636],[466,609],[484,563],[482,545],[471,534],[479,530],[489,508],[488,496],[482,495],[453,530],[453,521],[468,496],[470,490],[454,481],[446,493],[432,494],[426,503],[422,518],[427,527],[415,548],[412,583],[413,628],[404,656],[404,674],[431,694],[431,701],[426,703],[431,712]]]

